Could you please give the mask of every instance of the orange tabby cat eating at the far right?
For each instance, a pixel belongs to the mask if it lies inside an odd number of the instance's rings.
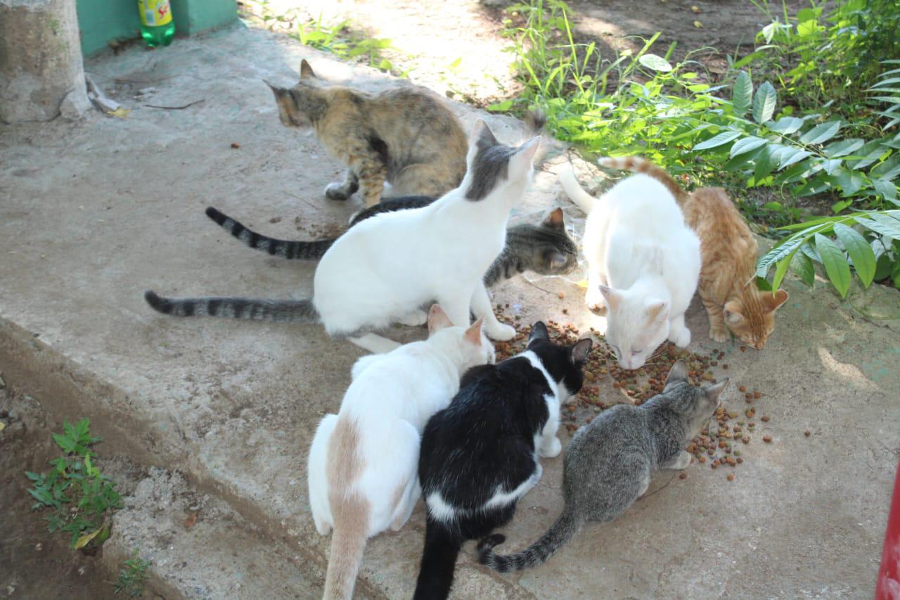
[[[788,292],[775,295],[756,287],[759,248],[747,223],[721,187],[700,187],[688,194],[675,179],[652,162],[638,157],[600,159],[608,168],[644,173],[669,188],[685,221],[700,239],[700,282],[697,291],[709,317],[709,337],[728,339],[728,332],[762,350],[775,329],[775,310]]]

